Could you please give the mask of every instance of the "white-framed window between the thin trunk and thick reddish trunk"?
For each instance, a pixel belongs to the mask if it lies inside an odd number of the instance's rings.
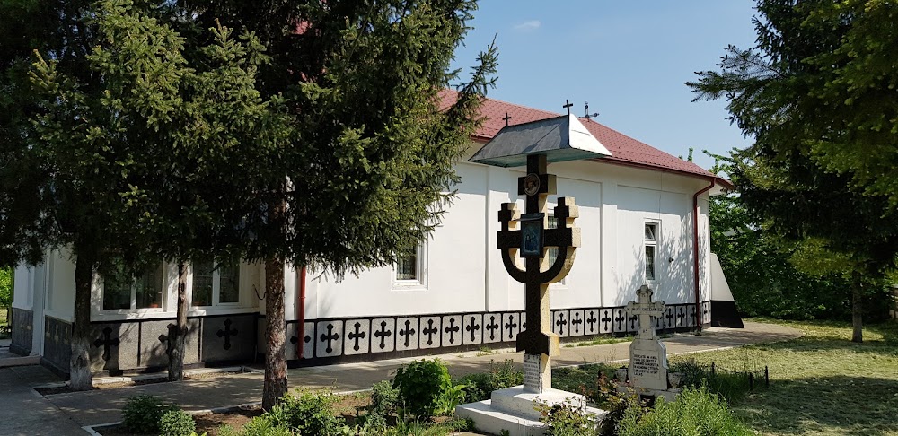
[[[195,307],[240,303],[240,265],[219,264],[211,260],[193,263],[193,301]]]

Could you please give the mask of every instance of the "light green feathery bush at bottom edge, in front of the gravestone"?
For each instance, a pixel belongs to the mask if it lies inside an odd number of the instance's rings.
[[[753,434],[730,413],[726,402],[707,388],[683,389],[674,402],[658,398],[644,413],[638,405],[624,413],[618,424],[621,436],[732,436]]]

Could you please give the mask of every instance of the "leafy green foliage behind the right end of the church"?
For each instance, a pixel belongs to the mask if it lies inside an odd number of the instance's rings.
[[[726,175],[736,171],[733,158],[714,157],[718,164],[712,171]],[[710,200],[711,251],[718,255],[739,310],[750,317],[850,318],[846,272],[852,264],[840,258],[843,255],[825,251],[819,239],[784,239],[748,207],[736,194]],[[871,318],[883,316],[883,290],[884,286],[871,286],[866,294]]]

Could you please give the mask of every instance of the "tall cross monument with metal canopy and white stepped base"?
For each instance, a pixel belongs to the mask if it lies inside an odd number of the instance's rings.
[[[517,336],[517,350],[524,352],[524,386],[500,389],[489,400],[458,406],[456,414],[471,418],[483,432],[542,434],[543,424],[533,408],[534,401],[549,405],[573,401],[582,405],[585,413],[604,414],[586,407],[581,395],[551,388],[551,357],[560,354],[560,347],[559,336],[551,330],[549,284],[563,279],[574,265],[580,230],[574,227],[578,216],[574,199],[564,196],[558,198],[553,211],[558,225],[549,228],[547,199],[556,194],[556,186],[547,165],[611,155],[577,117],[570,115],[569,103],[565,108],[567,116],[504,127],[471,157],[474,162],[499,167],[526,165],[527,169],[517,180],[517,194],[524,196],[524,214],[515,203],[503,204],[496,234],[508,275],[524,283],[527,327]],[[558,253],[553,259],[549,257],[550,248]]]

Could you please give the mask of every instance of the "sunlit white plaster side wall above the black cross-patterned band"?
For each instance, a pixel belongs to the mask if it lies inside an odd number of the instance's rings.
[[[392,267],[342,282],[310,272],[306,318],[523,310],[524,285],[506,274],[495,247],[500,205],[515,201],[524,210],[516,181],[524,169],[467,162],[457,169],[462,177],[459,197],[427,244],[427,286],[393,289]],[[594,161],[550,164],[549,171],[558,175],[558,194],[576,198],[582,232],[568,283],[550,288],[553,308],[620,306],[633,300],[644,283],[647,219],[661,224],[657,298],[692,301],[691,200],[707,182]],[[557,196],[550,196],[550,207],[556,202]],[[707,217],[700,226],[707,235]]]

